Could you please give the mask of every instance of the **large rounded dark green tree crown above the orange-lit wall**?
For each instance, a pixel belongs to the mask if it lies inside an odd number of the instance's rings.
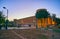
[[[35,14],[37,19],[42,20],[42,18],[48,18],[50,16],[49,12],[47,9],[38,9],[36,14]]]

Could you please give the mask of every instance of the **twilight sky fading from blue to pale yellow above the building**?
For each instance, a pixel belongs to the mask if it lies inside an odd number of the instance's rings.
[[[33,16],[40,8],[60,17],[60,0],[0,0],[0,11],[6,16],[4,6],[9,10],[9,20]]]

